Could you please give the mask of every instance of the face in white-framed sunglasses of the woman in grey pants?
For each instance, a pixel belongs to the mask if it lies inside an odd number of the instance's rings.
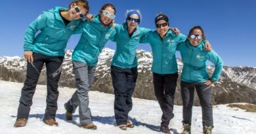
[[[114,19],[111,19],[111,15],[113,16],[115,14],[115,10],[112,7],[106,7],[104,10],[100,10],[100,20],[105,25],[111,24]]]

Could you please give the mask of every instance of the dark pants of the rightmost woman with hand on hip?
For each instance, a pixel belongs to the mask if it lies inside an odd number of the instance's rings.
[[[183,102],[183,123],[191,125],[194,90],[198,93],[202,107],[203,126],[213,127],[213,109],[211,107],[211,87],[204,83],[188,83],[181,81],[181,97]]]

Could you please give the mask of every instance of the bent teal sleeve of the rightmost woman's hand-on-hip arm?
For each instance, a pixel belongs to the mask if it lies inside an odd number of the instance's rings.
[[[219,77],[221,76],[221,72],[223,71],[223,59],[214,51],[211,50],[209,54],[209,61],[215,65],[215,69],[213,71],[213,75],[211,76],[211,80],[213,82],[219,81]]]

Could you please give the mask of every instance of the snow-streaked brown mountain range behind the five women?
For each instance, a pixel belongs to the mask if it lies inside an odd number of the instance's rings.
[[[110,63],[114,50],[104,48],[98,59],[96,67],[95,83],[92,90],[105,93],[113,93],[112,80],[110,76]],[[72,50],[66,51],[62,66],[62,76],[59,85],[75,88],[74,74],[72,74]],[[139,76],[133,97],[142,99],[156,99],[152,84],[152,53],[137,50]],[[179,73],[181,73],[182,62],[177,59]],[[209,73],[214,67],[207,67]],[[0,57],[0,78],[14,82],[24,82],[26,78],[26,60],[18,57]],[[45,69],[41,72],[39,84],[45,84]],[[175,104],[181,105],[180,82],[177,84]],[[256,104],[256,69],[253,67],[227,67],[223,69],[220,82],[213,88],[213,104],[225,103],[253,103]],[[195,105],[199,105],[198,98]]]

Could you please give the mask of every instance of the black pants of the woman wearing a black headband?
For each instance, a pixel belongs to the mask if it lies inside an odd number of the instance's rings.
[[[175,99],[175,90],[177,86],[178,73],[160,75],[153,73],[153,83],[156,99],[160,104],[161,126],[168,126],[173,118],[173,105]]]

